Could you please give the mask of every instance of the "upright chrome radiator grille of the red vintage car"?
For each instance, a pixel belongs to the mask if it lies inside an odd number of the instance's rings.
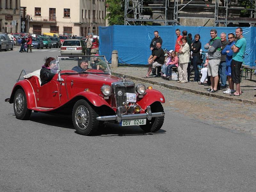
[[[118,92],[121,91],[123,94],[122,96],[118,95]],[[124,107],[123,102],[126,102],[126,93],[135,93],[134,85],[133,86],[116,86],[115,87],[115,93],[116,93],[116,108],[121,107],[121,113],[133,113],[133,108],[130,107],[127,108]]]

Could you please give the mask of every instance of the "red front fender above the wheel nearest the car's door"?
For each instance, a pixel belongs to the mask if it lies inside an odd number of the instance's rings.
[[[108,102],[106,100],[104,100],[102,97],[100,97],[99,95],[97,95],[94,92],[85,92],[85,91],[84,92],[80,92],[80,93],[76,94],[73,98],[79,97],[79,96],[85,97],[90,103],[92,103],[92,105],[94,105],[96,107],[100,107],[102,105],[106,105],[106,106],[112,108],[108,104]]]

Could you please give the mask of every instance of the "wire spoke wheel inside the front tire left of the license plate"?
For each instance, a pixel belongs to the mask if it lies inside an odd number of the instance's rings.
[[[85,130],[88,128],[90,123],[90,114],[85,106],[80,105],[76,109],[76,124],[81,130]]]

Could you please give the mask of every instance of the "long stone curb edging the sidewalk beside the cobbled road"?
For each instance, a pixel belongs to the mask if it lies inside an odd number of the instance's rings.
[[[113,72],[113,73],[116,74],[116,75],[120,75],[120,76],[125,75],[125,74],[117,73],[117,72]],[[141,77],[135,77],[135,76],[129,76],[129,75],[125,75],[125,76],[129,79],[134,79],[134,80],[138,80],[138,81],[142,81],[142,82],[150,83],[150,84],[157,84],[157,85],[167,87],[169,89],[182,90],[182,91],[185,91],[185,92],[192,92],[192,93],[195,93],[195,94],[198,94],[198,95],[206,95],[206,96],[209,96],[209,97],[215,97],[215,98],[222,99],[222,100],[229,100],[229,101],[243,102],[243,103],[249,103],[249,104],[256,104],[256,101],[253,101],[253,100],[240,99],[240,98],[237,98],[237,97],[232,97],[232,96],[228,96],[228,95],[224,95],[224,94],[223,95],[218,95],[218,94],[214,94],[214,93],[198,91],[198,90],[194,90],[194,89],[191,89],[191,88],[188,88],[188,87],[180,87],[180,86],[177,86],[177,85],[170,85],[170,84],[165,84],[163,82],[152,81],[152,80],[149,80],[147,78],[141,78]]]

